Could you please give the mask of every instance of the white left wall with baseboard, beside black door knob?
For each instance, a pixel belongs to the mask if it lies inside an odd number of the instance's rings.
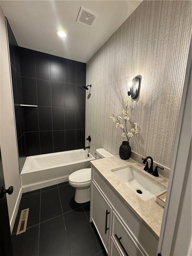
[[[0,7],[0,147],[5,186],[14,187],[13,194],[7,196],[12,229],[21,196],[21,183],[11,88],[5,16]]]

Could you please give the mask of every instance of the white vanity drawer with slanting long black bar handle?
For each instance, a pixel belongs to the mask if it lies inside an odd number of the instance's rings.
[[[144,256],[135,241],[132,240],[131,235],[126,230],[118,216],[113,212],[112,216],[112,234],[114,241],[125,256]]]

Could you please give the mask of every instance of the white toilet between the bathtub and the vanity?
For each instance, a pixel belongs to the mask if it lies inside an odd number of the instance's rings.
[[[113,156],[104,148],[96,149],[96,159]],[[85,203],[90,201],[91,168],[80,169],[69,175],[69,184],[76,189],[75,201]]]

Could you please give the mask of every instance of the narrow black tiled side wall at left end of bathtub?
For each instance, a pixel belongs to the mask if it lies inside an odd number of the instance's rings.
[[[15,121],[16,121],[16,130],[17,130],[19,171],[21,172],[27,153],[26,153],[26,144],[25,144],[26,141],[25,141],[25,127],[23,122],[23,118],[24,118],[23,109],[20,106],[20,104],[22,104],[23,101],[22,101],[22,89],[21,89],[19,47],[8,21],[7,21],[7,33],[8,33],[8,41],[9,41],[11,78],[12,78]]]

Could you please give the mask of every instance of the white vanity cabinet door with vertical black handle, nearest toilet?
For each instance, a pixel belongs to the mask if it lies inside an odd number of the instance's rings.
[[[112,209],[92,182],[91,218],[100,235],[103,245],[108,252],[111,233]]]

